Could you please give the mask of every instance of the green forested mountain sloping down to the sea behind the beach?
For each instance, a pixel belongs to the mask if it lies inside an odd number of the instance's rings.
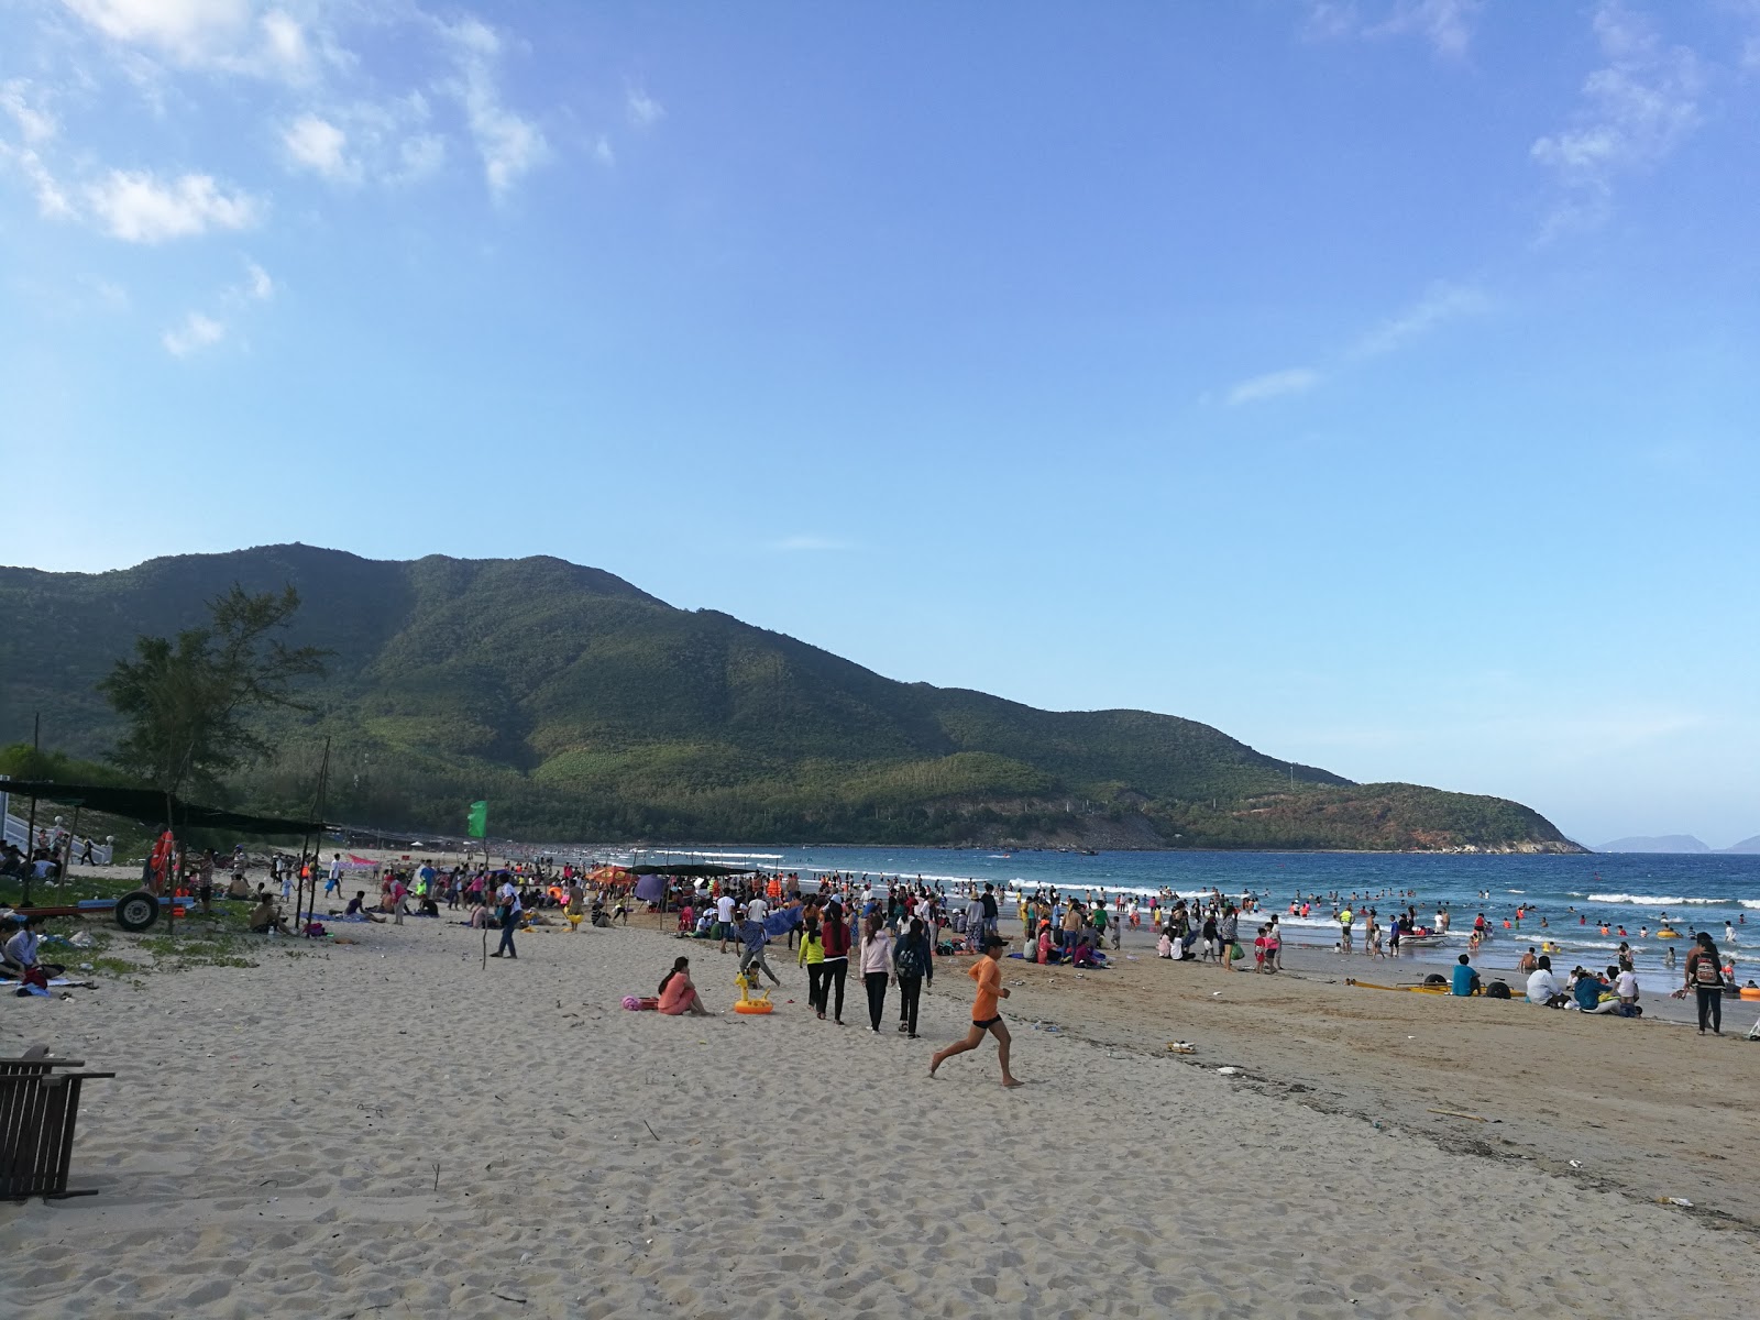
[[[46,744],[100,755],[97,679],[232,583],[292,583],[289,641],[334,651],[319,709],[275,716],[278,753],[229,785],[259,808],[310,804],[329,736],[326,815],[385,829],[456,834],[488,797],[496,834],[581,841],[1577,850],[1517,803],[1355,785],[1169,715],[898,683],[553,558],[0,568],[0,743],[40,711]]]

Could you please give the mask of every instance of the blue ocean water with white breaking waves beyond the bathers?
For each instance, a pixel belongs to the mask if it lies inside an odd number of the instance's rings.
[[[1452,938],[1422,961],[1452,963],[1466,950],[1466,935],[1480,912],[1492,926],[1487,963],[1512,964],[1519,950],[1551,940],[1559,970],[1575,963],[1605,966],[1621,938],[1632,945],[1646,980],[1660,975],[1667,945],[1681,961],[1695,931],[1711,931],[1720,949],[1734,952],[1741,979],[1760,979],[1760,855],[1591,854],[1552,855],[1443,855],[1443,854],[1290,854],[1290,852],[1102,852],[1093,857],[1065,852],[1000,852],[966,848],[788,848],[753,847],[706,852],[653,850],[644,861],[729,861],[781,868],[803,875],[841,871],[873,876],[922,876],[952,887],[989,882],[1007,889],[1056,885],[1081,894],[1102,889],[1111,896],[1253,894],[1267,912],[1287,913],[1290,899],[1313,896],[1313,913],[1281,917],[1297,942],[1331,943],[1338,926],[1329,899],[1339,896],[1359,912],[1376,908],[1387,919],[1412,903],[1420,924],[1438,905],[1452,913]],[[621,857],[628,861],[628,854]],[[1410,898],[1406,896],[1410,892]],[[1515,908],[1529,913],[1515,926]],[[1658,938],[1663,913],[1679,938]],[[1545,926],[1542,926],[1542,919]],[[1503,922],[1510,928],[1505,929]],[[1734,949],[1723,928],[1735,929]],[[1602,926],[1609,933],[1602,935]],[[1619,929],[1626,935],[1621,936]],[[1640,935],[1640,931],[1647,931]],[[1359,926],[1359,940],[1362,929]]]

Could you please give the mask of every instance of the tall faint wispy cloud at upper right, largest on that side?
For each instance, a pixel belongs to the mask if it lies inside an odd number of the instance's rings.
[[[1658,165],[1700,123],[1705,74],[1691,49],[1665,46],[1617,0],[1603,0],[1593,21],[1607,63],[1584,79],[1570,127],[1529,148],[1565,194],[1542,239],[1603,220],[1614,183]]]

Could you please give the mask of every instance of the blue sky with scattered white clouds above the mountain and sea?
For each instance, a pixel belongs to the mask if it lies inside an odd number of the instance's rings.
[[[558,554],[1721,847],[1756,128],[1756,0],[9,0],[0,561]]]

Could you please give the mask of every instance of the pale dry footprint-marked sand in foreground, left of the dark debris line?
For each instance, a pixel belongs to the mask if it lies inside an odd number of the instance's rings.
[[[1030,1086],[989,1045],[929,1081],[956,966],[906,1042],[868,1033],[854,980],[848,1026],[813,1021],[780,952],[796,1003],[706,1021],[618,1001],[685,950],[725,1007],[708,943],[528,935],[484,972],[458,926],[338,929],[361,943],[5,1001],[0,1052],[120,1077],[88,1086],[74,1160],[102,1195],[0,1207],[0,1313],[1654,1316],[1760,1292],[1744,1232],[1169,1058],[1017,1024]]]

